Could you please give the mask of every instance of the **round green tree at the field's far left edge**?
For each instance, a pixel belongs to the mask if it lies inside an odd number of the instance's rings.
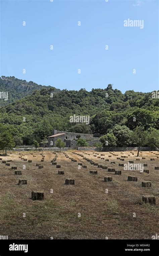
[[[15,146],[15,142],[13,136],[5,131],[0,135],[0,149],[5,150],[5,154],[7,155],[7,150],[12,150]]]

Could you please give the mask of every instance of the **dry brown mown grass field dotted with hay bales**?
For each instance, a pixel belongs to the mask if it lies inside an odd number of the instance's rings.
[[[73,152],[122,173],[115,175],[91,165]],[[133,152],[134,155],[130,152],[95,152],[99,154],[95,157],[93,152],[66,151],[77,162],[63,153],[56,153],[56,162],[61,168],[52,165],[55,156],[52,152],[43,152],[44,162],[41,162],[40,152],[20,153],[27,161],[19,158],[19,152],[0,156],[0,235],[8,235],[8,239],[151,239],[159,233],[159,170],[155,169],[159,166],[158,152],[140,152],[139,157],[137,152]],[[120,161],[117,157],[121,156],[127,158]],[[155,160],[150,161],[151,158]],[[10,166],[2,163],[3,160]],[[123,170],[118,166],[129,160],[147,164],[144,169],[149,173]],[[36,163],[44,168],[39,169]],[[87,165],[87,169],[82,166],[79,169],[78,163]],[[17,166],[22,175],[15,175],[12,166]],[[59,170],[64,170],[64,175],[59,175]],[[90,170],[97,170],[98,174],[92,175]],[[127,181],[128,175],[137,177],[138,181]],[[104,182],[105,176],[111,176],[113,181]],[[75,185],[65,185],[66,178],[74,179]],[[27,179],[27,185],[18,185],[19,179]],[[142,181],[151,181],[152,187],[142,187]],[[32,191],[43,191],[44,200],[32,200]],[[156,196],[156,205],[144,203],[143,195]]]

